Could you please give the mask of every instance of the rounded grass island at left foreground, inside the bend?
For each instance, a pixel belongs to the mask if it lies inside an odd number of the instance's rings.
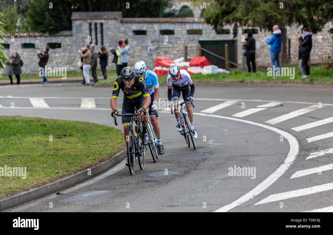
[[[0,176],[0,198],[95,166],[125,148],[123,133],[113,127],[21,116],[0,116],[0,142],[0,167],[26,167],[25,179]]]

